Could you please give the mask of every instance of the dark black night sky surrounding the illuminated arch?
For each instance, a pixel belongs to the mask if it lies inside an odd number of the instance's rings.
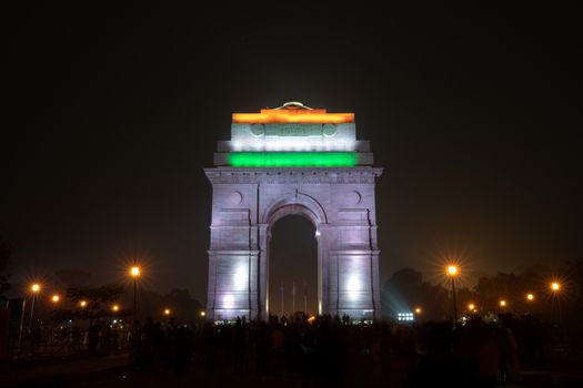
[[[109,282],[139,254],[152,287],[203,300],[202,169],[232,112],[285,101],[355,112],[385,169],[382,279],[445,254],[483,272],[583,257],[575,10],[352,7],[7,12],[0,234],[13,279],[77,267]]]

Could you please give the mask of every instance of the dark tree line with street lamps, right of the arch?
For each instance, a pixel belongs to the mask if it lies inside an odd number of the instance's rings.
[[[551,282],[557,280],[561,289],[551,289]],[[526,298],[533,294],[534,299]],[[405,268],[393,274],[383,287],[383,314],[393,318],[400,312],[422,308],[420,318],[443,320],[452,317],[452,292],[450,283],[424,282],[422,273]],[[473,287],[456,288],[460,314],[469,313],[468,304],[475,305],[482,316],[500,313],[536,315],[546,320],[559,319],[561,308],[565,326],[580,327],[583,323],[583,261],[565,262],[560,267],[533,266],[520,274],[497,273],[482,276]],[[500,306],[504,299],[506,306]]]

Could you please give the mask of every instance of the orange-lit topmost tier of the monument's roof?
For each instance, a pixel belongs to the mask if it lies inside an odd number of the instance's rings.
[[[311,109],[301,102],[287,102],[275,109],[262,109],[260,113],[233,113],[233,123],[353,123],[354,113],[328,113],[325,109]]]

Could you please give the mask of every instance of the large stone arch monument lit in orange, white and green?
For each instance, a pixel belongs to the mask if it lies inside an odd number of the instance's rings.
[[[316,231],[318,313],[380,318],[382,169],[372,162],[353,113],[301,103],[234,113],[231,140],[219,142],[214,167],[204,170],[213,192],[207,317],[268,317],[271,228],[299,214]]]

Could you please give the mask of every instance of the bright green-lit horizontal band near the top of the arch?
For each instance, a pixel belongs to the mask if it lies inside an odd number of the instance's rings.
[[[355,152],[232,152],[234,167],[351,167]]]

